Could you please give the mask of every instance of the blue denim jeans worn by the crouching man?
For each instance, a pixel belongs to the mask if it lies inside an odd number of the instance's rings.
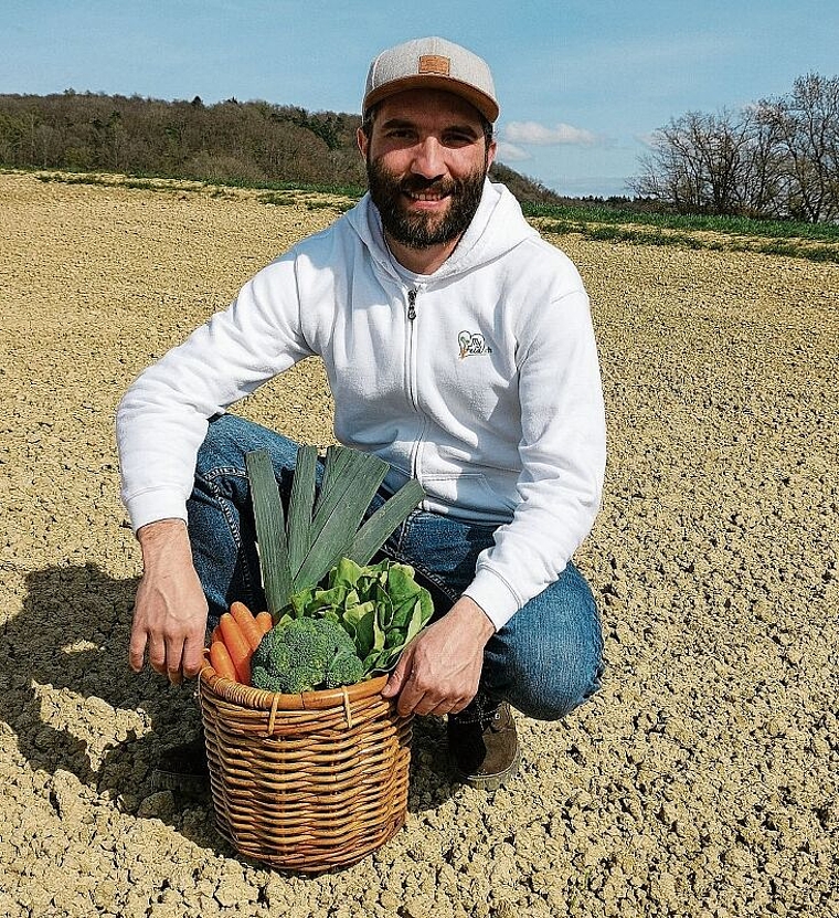
[[[198,455],[188,503],[195,570],[210,604],[210,623],[234,600],[264,609],[245,453],[268,451],[287,497],[297,443],[235,415],[213,419]],[[371,510],[386,498],[378,495]],[[411,564],[447,611],[475,574],[478,555],[492,545],[492,526],[415,510],[391,536],[384,552]],[[481,687],[529,717],[554,720],[601,685],[603,639],[588,584],[572,564],[520,609],[487,644]]]

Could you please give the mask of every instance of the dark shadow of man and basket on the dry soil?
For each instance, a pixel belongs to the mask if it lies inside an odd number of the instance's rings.
[[[209,791],[176,795],[173,805],[166,801],[149,812],[157,756],[193,739],[201,717],[194,682],[174,687],[148,667],[139,675],[128,667],[137,583],[137,578],[115,580],[94,564],[28,574],[23,611],[0,629],[0,720],[15,735],[33,771],[75,774],[121,811],[153,815],[203,847],[236,856],[214,830]],[[43,697],[43,686],[72,694],[75,704],[64,700],[51,717],[44,706],[54,695]],[[136,725],[138,711],[142,735],[136,726],[120,724]],[[62,726],[55,726],[60,721]],[[100,750],[104,737],[120,735],[125,739],[93,760],[92,746]],[[454,792],[443,750],[444,724],[436,718],[415,720],[411,812],[433,810]]]

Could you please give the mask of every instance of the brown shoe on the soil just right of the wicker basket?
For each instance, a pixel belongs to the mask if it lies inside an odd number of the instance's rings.
[[[448,751],[458,778],[472,788],[498,790],[519,770],[519,738],[507,701],[482,693],[448,716]]]

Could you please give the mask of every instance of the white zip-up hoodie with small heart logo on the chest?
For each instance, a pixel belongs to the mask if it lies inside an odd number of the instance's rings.
[[[424,508],[498,525],[465,591],[501,627],[553,582],[599,507],[605,423],[588,298],[503,186],[434,274],[396,267],[365,196],[295,245],[180,347],[117,413],[137,530],[187,518],[208,419],[311,355],[334,433],[411,476]]]

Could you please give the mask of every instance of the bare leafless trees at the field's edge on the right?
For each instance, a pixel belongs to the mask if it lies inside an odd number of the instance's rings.
[[[679,213],[839,221],[839,77],[660,128],[630,188]]]

